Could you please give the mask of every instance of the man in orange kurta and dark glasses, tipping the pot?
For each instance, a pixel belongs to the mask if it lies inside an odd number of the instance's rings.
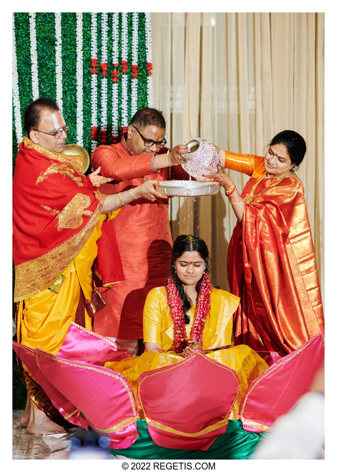
[[[182,157],[177,155],[177,150],[186,152],[187,148],[180,145],[170,152],[165,147],[165,127],[164,117],[158,110],[138,110],[120,143],[99,146],[94,151],[93,168],[101,166],[101,174],[113,179],[102,188],[103,192],[132,189],[146,179],[189,178],[178,165]],[[168,201],[139,199],[131,203],[102,226],[103,237],[108,235],[109,225],[115,230],[125,281],[113,284],[103,295],[107,306],[96,316],[94,329],[117,338],[119,344],[135,355],[136,340],[143,338],[146,296],[152,288],[166,283],[169,272],[172,238]],[[104,248],[100,247],[101,250]]]

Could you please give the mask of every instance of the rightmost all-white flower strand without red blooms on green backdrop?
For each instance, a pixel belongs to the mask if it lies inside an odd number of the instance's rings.
[[[76,13],[76,143],[83,146],[83,16]]]

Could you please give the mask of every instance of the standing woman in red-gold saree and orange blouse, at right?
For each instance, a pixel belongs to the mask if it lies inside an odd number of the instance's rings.
[[[223,167],[251,176],[241,194],[220,166],[207,176],[225,188],[238,220],[227,252],[229,289],[240,297],[234,342],[271,364],[324,330],[304,190],[295,174],[305,141],[286,130],[264,157],[217,151]]]

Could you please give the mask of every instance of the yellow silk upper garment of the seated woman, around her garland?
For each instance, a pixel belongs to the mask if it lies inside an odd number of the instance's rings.
[[[232,315],[239,304],[239,297],[213,288],[211,308],[207,315],[203,331],[203,349],[215,349],[232,344]],[[195,307],[187,315],[190,322],[186,324],[187,339],[190,339],[195,315]],[[143,312],[144,342],[160,344],[164,351],[174,350],[173,320],[168,304],[166,287],[152,289],[145,301]]]

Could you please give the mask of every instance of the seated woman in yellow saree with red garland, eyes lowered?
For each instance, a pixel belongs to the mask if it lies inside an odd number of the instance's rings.
[[[247,387],[268,365],[250,347],[232,345],[232,316],[239,298],[214,287],[208,273],[205,241],[193,235],[178,236],[173,244],[167,286],[152,289],[145,301],[145,352],[140,357],[107,362],[105,367],[123,374],[137,399],[137,384],[143,372],[203,351],[236,371],[240,386],[229,418],[237,419]]]

